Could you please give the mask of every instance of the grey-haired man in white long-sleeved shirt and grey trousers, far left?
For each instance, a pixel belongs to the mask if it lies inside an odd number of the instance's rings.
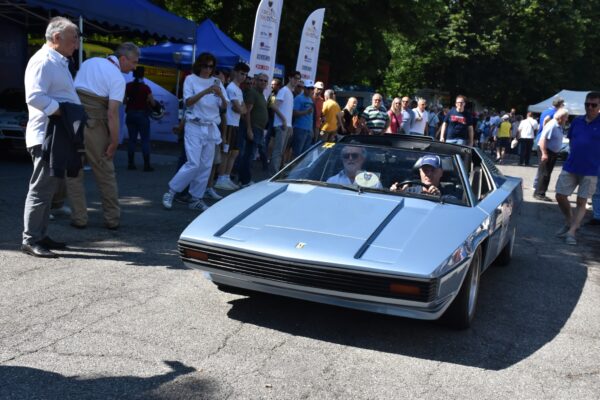
[[[42,143],[48,117],[60,115],[59,103],[80,104],[67,58],[78,48],[77,26],[63,17],[52,18],[46,28],[46,44],[31,57],[25,70],[29,109],[25,143],[33,160],[33,173],[25,200],[21,250],[35,257],[57,257],[50,250],[66,247],[46,235],[52,196],[64,177],[51,176],[48,161],[42,159]]]

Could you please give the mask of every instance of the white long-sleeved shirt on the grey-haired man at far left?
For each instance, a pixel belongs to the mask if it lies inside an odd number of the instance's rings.
[[[48,116],[56,112],[58,103],[81,104],[69,72],[69,60],[46,44],[27,63],[25,101],[29,110],[27,147],[44,142]]]

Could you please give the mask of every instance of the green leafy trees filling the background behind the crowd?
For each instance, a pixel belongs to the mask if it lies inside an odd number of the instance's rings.
[[[211,18],[250,48],[258,0],[156,0]],[[326,8],[320,59],[330,81],[388,96],[418,88],[524,107],[560,89],[600,89],[600,2],[575,0],[286,0],[278,62],[296,65],[307,16]]]

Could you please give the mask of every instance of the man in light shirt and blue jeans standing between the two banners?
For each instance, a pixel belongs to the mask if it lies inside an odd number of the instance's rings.
[[[288,142],[294,133],[292,127],[292,115],[294,112],[294,89],[301,79],[300,72],[292,71],[288,73],[288,84],[279,89],[275,103],[271,105],[275,117],[273,128],[275,134],[275,144],[271,154],[271,163],[269,172],[275,175],[281,169],[283,153],[287,149]]]

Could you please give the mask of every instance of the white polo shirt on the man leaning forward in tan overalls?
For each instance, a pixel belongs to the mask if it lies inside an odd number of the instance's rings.
[[[84,61],[75,77],[75,88],[122,103],[125,99],[125,78],[119,59],[108,56]]]

